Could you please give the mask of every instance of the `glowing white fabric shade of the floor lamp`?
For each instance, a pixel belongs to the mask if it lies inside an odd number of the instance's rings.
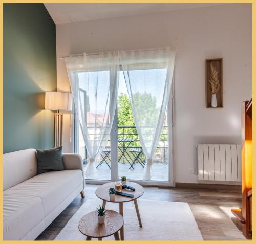
[[[46,92],[45,109],[72,111],[72,93]]]

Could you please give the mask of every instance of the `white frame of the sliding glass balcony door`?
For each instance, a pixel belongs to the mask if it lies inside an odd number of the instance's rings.
[[[167,106],[167,115],[168,115],[168,179],[169,181],[143,181],[143,180],[131,180],[135,183],[138,183],[142,186],[168,186],[168,187],[175,187],[175,178],[174,178],[174,150],[173,150],[173,143],[174,143],[174,134],[173,134],[173,127],[174,127],[174,79],[172,82],[172,93],[170,94],[168,106]],[[78,139],[78,129],[79,123],[77,120],[77,115],[74,109],[74,152],[79,152],[79,139]],[[86,180],[88,184],[104,184],[111,181],[117,181],[118,179],[118,141],[117,141],[117,107],[114,117],[114,123],[111,129],[110,134],[110,145],[111,145],[111,180]],[[86,150],[86,149],[85,149]],[[86,159],[83,159],[83,164],[85,163]]]

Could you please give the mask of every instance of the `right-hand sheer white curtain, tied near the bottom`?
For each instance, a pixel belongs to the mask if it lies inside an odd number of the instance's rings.
[[[146,156],[143,180],[152,177],[152,157],[162,131],[172,87],[176,50],[119,51],[135,125]]]

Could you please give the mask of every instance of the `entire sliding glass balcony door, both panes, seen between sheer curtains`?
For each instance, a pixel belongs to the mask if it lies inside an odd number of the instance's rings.
[[[157,80],[156,80],[157,82]],[[90,123],[94,121],[93,114],[90,114],[90,106],[93,101],[87,98],[87,91],[81,91],[83,96],[82,105],[86,109],[86,124],[90,131]],[[151,118],[154,109],[158,104],[154,95],[141,94],[141,102],[151,104],[148,119]],[[76,116],[74,116],[76,118]],[[102,118],[104,116],[102,115]],[[100,115],[97,115],[100,118]],[[143,181],[143,170],[146,160],[138,130],[135,125],[134,115],[131,108],[129,95],[124,80],[123,72],[119,73],[119,90],[117,94],[117,109],[111,136],[105,149],[95,158],[97,172],[87,176],[90,183],[101,183],[105,181],[116,181],[121,176],[126,176],[128,180],[139,182],[144,185],[173,185],[172,176],[172,98],[169,99],[168,108],[165,113],[164,125],[161,128],[160,140],[153,156],[153,175],[150,180]],[[83,140],[78,120],[75,119],[75,150],[87,164],[88,153]]]

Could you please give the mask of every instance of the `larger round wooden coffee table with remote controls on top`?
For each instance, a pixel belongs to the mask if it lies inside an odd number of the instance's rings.
[[[100,199],[103,200],[102,205],[104,205],[104,206],[106,206],[106,202],[119,203],[119,213],[122,216],[123,216],[123,203],[134,201],[137,217],[138,217],[138,220],[139,220],[139,225],[140,225],[140,227],[142,227],[140,212],[139,212],[138,203],[137,203],[137,198],[139,198],[140,196],[143,195],[144,188],[141,185],[139,185],[137,183],[134,183],[134,182],[130,182],[130,181],[127,181],[126,185],[134,187],[135,191],[122,189],[122,192],[133,194],[134,197],[127,197],[127,196],[121,196],[121,195],[116,194],[115,195],[115,200],[110,201],[109,189],[110,188],[115,188],[115,182],[106,183],[106,184],[98,187],[97,190],[95,191],[95,194],[96,194],[97,197],[99,197]],[[120,236],[121,236],[121,240],[124,240],[123,226],[120,230]]]

